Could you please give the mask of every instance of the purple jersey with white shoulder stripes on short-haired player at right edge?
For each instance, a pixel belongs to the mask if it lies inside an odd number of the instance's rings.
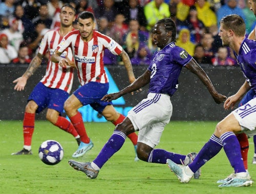
[[[244,77],[256,92],[256,42],[245,38],[236,57]]]

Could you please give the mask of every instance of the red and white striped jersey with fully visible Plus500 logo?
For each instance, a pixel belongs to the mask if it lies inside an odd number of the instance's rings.
[[[72,48],[81,85],[88,82],[108,83],[103,64],[104,50],[108,48],[114,55],[122,52],[121,45],[97,31],[93,31],[93,37],[88,42],[81,39],[79,30],[69,32],[57,46],[57,51],[62,53],[68,47]]]

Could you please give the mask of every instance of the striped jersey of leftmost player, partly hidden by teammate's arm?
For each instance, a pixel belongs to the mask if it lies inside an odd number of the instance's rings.
[[[44,38],[42,38],[38,53],[46,55],[49,51],[52,56],[57,45],[62,40],[62,36],[59,34],[59,28],[48,31]],[[73,61],[73,55],[71,48],[67,48],[61,55],[61,57],[68,57]],[[59,88],[70,93],[73,84],[73,70],[74,67],[61,67],[58,63],[48,60],[46,75],[40,80],[45,86],[50,88]]]

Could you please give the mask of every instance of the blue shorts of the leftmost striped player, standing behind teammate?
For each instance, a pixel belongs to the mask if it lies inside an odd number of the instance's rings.
[[[45,108],[50,108],[63,112],[65,101],[69,98],[69,93],[58,88],[49,88],[39,82],[29,95],[28,101],[35,101],[38,105],[36,113],[40,113]]]

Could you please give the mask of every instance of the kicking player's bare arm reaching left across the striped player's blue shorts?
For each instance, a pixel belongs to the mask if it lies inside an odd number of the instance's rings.
[[[110,101],[113,101],[113,100],[116,100],[116,99],[120,98],[122,95],[125,95],[127,93],[131,93],[133,91],[137,91],[140,88],[142,88],[143,86],[145,86],[146,84],[150,83],[150,76],[151,76],[151,71],[147,69],[144,72],[144,74],[141,75],[132,84],[125,87],[124,89],[122,89],[119,92],[104,95],[101,100],[110,102]]]

